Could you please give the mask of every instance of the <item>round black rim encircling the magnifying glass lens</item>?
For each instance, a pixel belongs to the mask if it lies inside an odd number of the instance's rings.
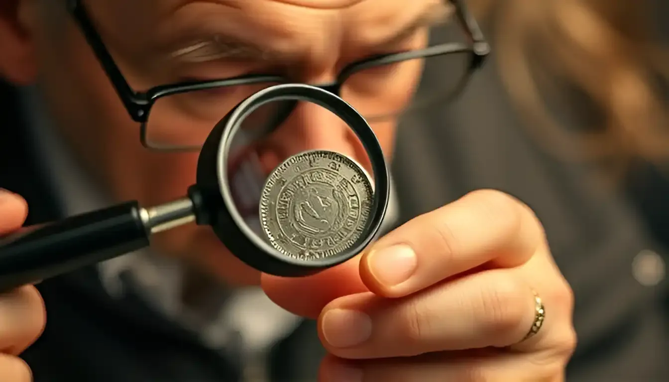
[[[363,235],[357,243],[338,256],[332,256],[329,258],[322,259],[313,259],[313,260],[298,260],[290,258],[278,252],[278,250],[272,248],[270,244],[262,240],[249,226],[246,224],[246,221],[242,218],[235,203],[232,198],[232,194],[229,188],[229,182],[227,181],[227,160],[229,151],[232,144],[232,138],[235,136],[237,131],[241,128],[242,122],[256,109],[260,108],[264,104],[270,102],[278,102],[282,100],[296,100],[296,101],[306,101],[313,104],[317,104],[330,112],[337,115],[341,120],[346,122],[346,124],[355,132],[358,138],[361,140],[367,155],[369,156],[369,161],[371,162],[371,168],[373,173],[374,181],[374,194],[372,198],[370,219],[365,224],[365,229],[363,230]],[[235,109],[231,112],[229,118],[225,122],[223,127],[223,133],[221,134],[221,140],[219,141],[218,155],[217,155],[217,176],[219,191],[221,197],[223,198],[223,203],[234,223],[237,227],[240,228],[240,231],[256,248],[265,252],[267,255],[272,256],[284,263],[292,264],[294,266],[300,266],[302,268],[328,268],[346,260],[349,260],[356,254],[359,254],[369,246],[369,244],[375,240],[379,230],[381,229],[381,224],[383,223],[383,218],[385,217],[385,212],[388,207],[390,187],[389,187],[389,174],[388,168],[385,163],[385,158],[383,157],[383,151],[379,140],[377,139],[376,134],[372,130],[371,126],[367,123],[367,120],[361,116],[359,112],[353,108],[348,102],[340,98],[339,96],[332,94],[326,90],[316,88],[315,86],[310,86],[306,84],[278,84],[264,88],[256,94],[253,94],[249,98],[246,98],[242,103],[237,105]]]

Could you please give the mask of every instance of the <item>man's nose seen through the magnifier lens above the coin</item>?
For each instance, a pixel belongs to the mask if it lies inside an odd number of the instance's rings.
[[[298,102],[264,145],[280,163],[306,150],[328,150],[357,157],[359,139],[338,116],[311,102]],[[276,164],[278,164],[276,163]]]

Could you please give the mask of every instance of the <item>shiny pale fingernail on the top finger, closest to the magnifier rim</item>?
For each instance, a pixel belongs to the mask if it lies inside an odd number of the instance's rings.
[[[395,286],[409,280],[418,265],[411,247],[399,244],[369,254],[372,276],[385,286]]]

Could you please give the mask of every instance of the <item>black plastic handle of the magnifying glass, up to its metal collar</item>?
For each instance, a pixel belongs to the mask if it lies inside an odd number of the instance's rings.
[[[149,246],[136,201],[28,227],[0,240],[0,291]]]

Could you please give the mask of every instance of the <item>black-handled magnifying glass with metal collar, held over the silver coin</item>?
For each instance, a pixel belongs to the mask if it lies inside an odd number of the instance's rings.
[[[341,118],[367,151],[372,174],[332,151],[289,157],[262,190],[258,214],[264,235],[258,235],[235,205],[229,152],[242,122],[258,108],[282,101],[310,102]],[[246,98],[211,130],[187,196],[153,207],[120,203],[0,240],[0,290],[140,250],[151,235],[193,222],[211,227],[234,256],[260,272],[308,276],[346,262],[375,240],[388,200],[388,169],[365,118],[326,90],[279,84]]]

